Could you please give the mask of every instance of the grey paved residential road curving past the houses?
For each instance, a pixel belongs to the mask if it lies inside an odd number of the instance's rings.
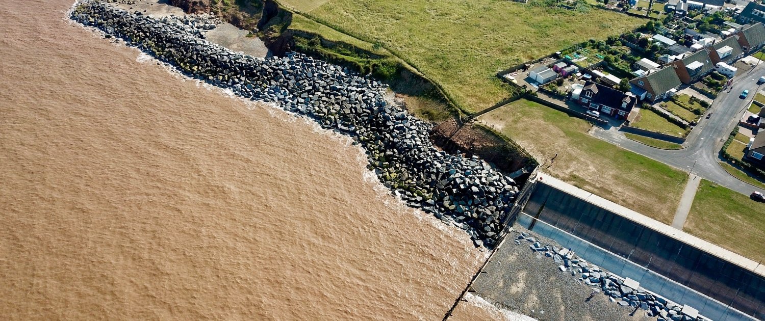
[[[711,180],[739,193],[748,195],[753,190],[760,190],[760,192],[765,193],[762,189],[731,176],[718,164],[720,160],[718,151],[738,120],[744,115],[757,90],[760,89],[760,86],[757,85],[757,79],[760,76],[765,76],[765,63],[760,63],[754,70],[735,77],[731,91],[721,92],[718,95],[710,107],[713,115],[710,119],[702,118],[698,126],[688,135],[688,140],[683,144],[685,147],[683,149],[667,151],[652,148],[624,137],[621,132],[617,131],[617,128],[606,130],[596,127],[592,131],[593,135],[680,170],[692,170],[692,173],[698,177]],[[745,100],[739,99],[738,96],[744,89],[749,89],[749,97]]]

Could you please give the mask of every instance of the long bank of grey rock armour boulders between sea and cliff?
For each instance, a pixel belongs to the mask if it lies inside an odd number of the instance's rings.
[[[349,135],[394,196],[464,229],[477,245],[496,243],[516,183],[478,157],[439,151],[429,141],[430,125],[389,105],[382,83],[299,53],[261,59],[233,52],[205,41],[194,18],[151,18],[100,1],[77,4],[71,18],[187,76]]]

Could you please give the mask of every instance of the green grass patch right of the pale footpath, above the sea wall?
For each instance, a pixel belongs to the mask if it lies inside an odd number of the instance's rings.
[[[683,230],[754,261],[765,260],[765,204],[702,180]]]

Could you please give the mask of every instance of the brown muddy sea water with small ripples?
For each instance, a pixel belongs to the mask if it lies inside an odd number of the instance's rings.
[[[0,319],[444,316],[487,255],[467,235],[379,191],[348,139],[70,5],[0,1]]]

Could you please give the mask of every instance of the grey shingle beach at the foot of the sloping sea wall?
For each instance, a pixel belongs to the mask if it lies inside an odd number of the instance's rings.
[[[655,320],[645,310],[619,306],[603,293],[588,300],[592,287],[581,283],[571,272],[558,271],[558,264],[542,253],[535,253],[531,243],[513,239],[526,232],[545,245],[558,246],[549,238],[533,235],[514,226],[504,244],[497,249],[475,283],[476,295],[504,310],[517,311],[539,320]]]

